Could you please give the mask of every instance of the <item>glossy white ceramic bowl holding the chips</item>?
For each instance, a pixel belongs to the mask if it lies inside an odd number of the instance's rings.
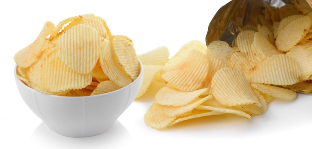
[[[89,137],[111,128],[134,101],[143,80],[143,65],[141,61],[139,64],[140,74],[131,84],[93,96],[47,95],[28,87],[16,77],[15,80],[26,105],[50,130],[68,137]]]

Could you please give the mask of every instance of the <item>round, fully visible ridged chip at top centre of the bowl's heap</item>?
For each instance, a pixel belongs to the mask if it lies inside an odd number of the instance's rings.
[[[95,29],[78,24],[58,38],[57,55],[76,73],[88,74],[98,61],[100,43],[99,33]]]

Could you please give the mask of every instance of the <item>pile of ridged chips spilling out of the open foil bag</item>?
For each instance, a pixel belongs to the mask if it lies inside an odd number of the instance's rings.
[[[146,125],[162,129],[222,114],[251,119],[272,99],[310,94],[311,7],[267,4],[260,19],[255,29],[240,28],[233,46],[196,40],[183,45],[153,79],[164,85],[144,115]]]

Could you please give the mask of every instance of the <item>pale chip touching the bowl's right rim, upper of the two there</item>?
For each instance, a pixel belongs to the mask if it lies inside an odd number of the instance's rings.
[[[169,59],[169,50],[167,47],[158,47],[149,52],[139,54],[138,58],[143,65],[165,65]]]

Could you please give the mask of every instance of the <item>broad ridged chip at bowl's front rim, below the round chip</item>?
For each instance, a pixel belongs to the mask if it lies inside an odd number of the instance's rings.
[[[41,83],[51,92],[81,89],[92,82],[92,73],[78,74],[68,68],[54,52],[42,63]]]

